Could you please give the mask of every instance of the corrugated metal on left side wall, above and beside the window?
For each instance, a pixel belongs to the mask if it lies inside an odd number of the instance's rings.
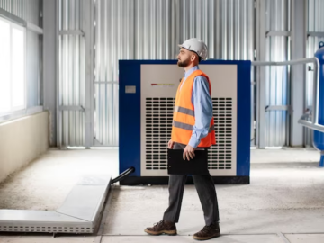
[[[38,26],[41,26],[40,4],[41,0],[0,0],[0,8]],[[27,30],[26,42],[27,107],[33,107],[41,104],[41,37]]]

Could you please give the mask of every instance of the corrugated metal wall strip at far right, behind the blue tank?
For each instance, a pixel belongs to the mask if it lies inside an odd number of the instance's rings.
[[[308,0],[308,30],[309,32],[324,32],[324,1]],[[306,55],[308,58],[314,57],[314,53],[319,49],[320,41],[324,41],[324,37],[308,36]],[[311,66],[309,64],[308,66]],[[313,93],[313,71],[306,73],[306,102],[305,109],[312,106]],[[305,129],[305,145],[312,146],[313,132],[310,129]]]

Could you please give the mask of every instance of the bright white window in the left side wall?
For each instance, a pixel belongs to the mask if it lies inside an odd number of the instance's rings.
[[[26,31],[0,18],[0,115],[26,108]]]

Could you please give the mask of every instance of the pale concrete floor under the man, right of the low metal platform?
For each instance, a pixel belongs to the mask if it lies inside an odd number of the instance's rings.
[[[261,164],[252,167],[251,184],[216,188],[223,237],[212,242],[324,242],[313,235],[324,234],[323,168],[313,163],[280,168]],[[143,242],[144,237],[148,242],[175,242],[143,232],[162,219],[167,200],[167,186],[114,186],[103,235],[109,242]],[[193,242],[188,236],[203,225],[194,185],[186,185],[176,242]]]

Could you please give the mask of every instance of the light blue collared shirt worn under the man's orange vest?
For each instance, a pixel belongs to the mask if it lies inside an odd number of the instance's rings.
[[[184,82],[188,76],[198,69],[199,67],[195,66],[186,71],[184,74]],[[211,126],[211,118],[213,116],[209,84],[204,76],[196,76],[194,78],[192,103],[194,107],[195,124],[193,126],[193,134],[189,141],[189,145],[193,148],[197,148],[201,139],[208,135]]]

